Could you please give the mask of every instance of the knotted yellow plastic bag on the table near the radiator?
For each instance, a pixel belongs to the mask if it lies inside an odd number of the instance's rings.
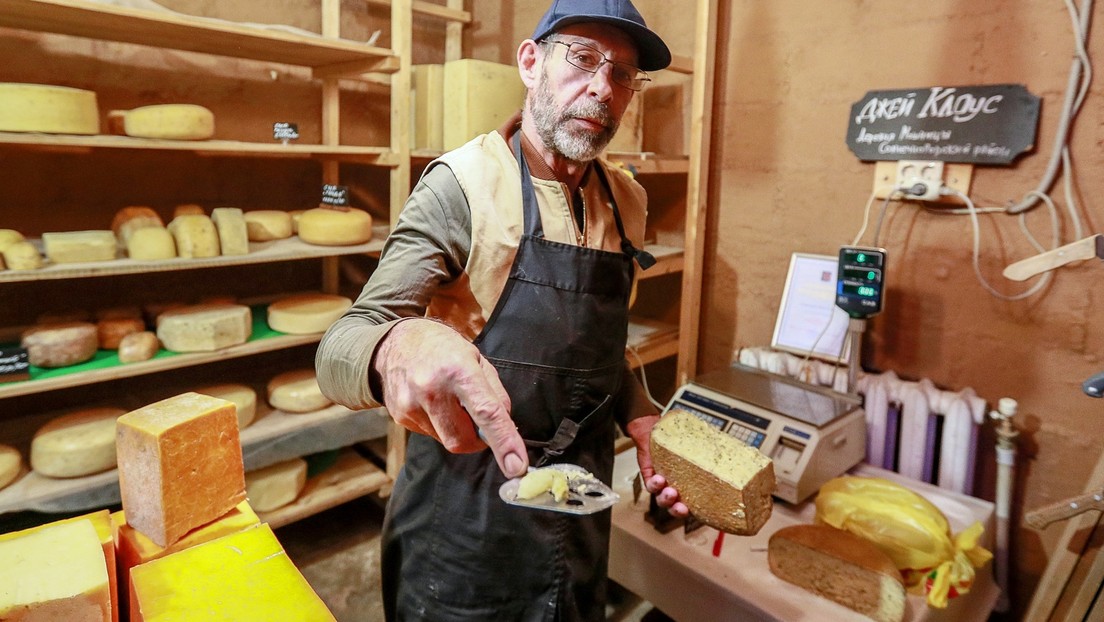
[[[846,529],[885,552],[910,591],[926,593],[944,608],[947,599],[969,591],[975,568],[992,558],[978,546],[984,533],[975,523],[957,536],[924,497],[881,477],[845,475],[820,488],[816,520]]]

